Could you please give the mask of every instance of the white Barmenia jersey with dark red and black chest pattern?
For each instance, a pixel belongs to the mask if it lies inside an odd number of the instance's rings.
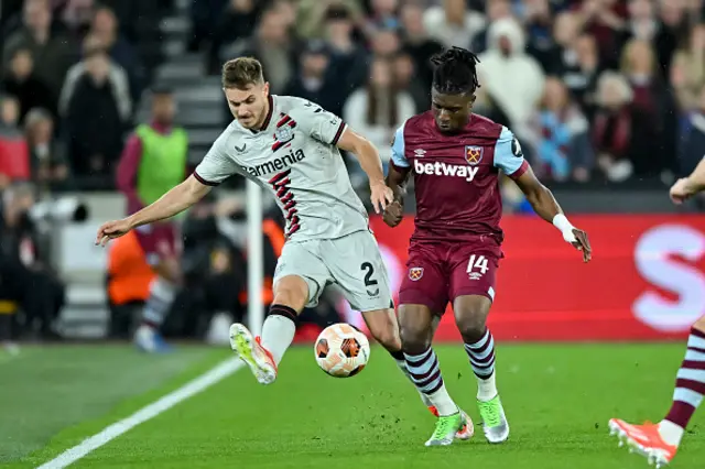
[[[292,96],[270,96],[262,130],[237,120],[218,137],[194,173],[216,186],[240,174],[268,188],[294,239],[335,239],[368,229],[368,217],[352,190],[336,144],[343,120]]]

